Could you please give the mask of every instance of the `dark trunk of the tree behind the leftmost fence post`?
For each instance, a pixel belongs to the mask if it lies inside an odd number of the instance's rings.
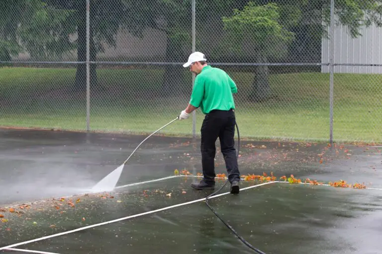
[[[84,1],[84,3],[86,3]],[[79,4],[78,8],[78,62],[86,62],[86,4]],[[92,14],[92,13],[91,13]],[[92,16],[92,15],[91,15]],[[90,26],[90,61],[95,61],[96,50],[94,43],[94,29]],[[90,64],[90,85],[95,88],[97,85],[96,65]],[[74,89],[78,92],[86,91],[86,64],[78,64],[76,72],[76,82]]]

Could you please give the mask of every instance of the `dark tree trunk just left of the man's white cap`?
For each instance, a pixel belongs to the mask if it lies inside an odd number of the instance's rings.
[[[184,58],[182,46],[182,43],[176,39],[172,39],[168,35],[165,61],[168,63],[177,63],[182,61]],[[161,90],[162,96],[171,96],[174,93],[175,88],[182,85],[183,69],[184,67],[182,65],[166,65],[165,72],[163,74]]]

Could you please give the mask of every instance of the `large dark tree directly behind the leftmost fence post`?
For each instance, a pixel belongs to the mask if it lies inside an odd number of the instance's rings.
[[[71,42],[77,48],[78,62],[86,62],[86,0],[45,0],[48,6],[71,13],[62,20],[62,27],[72,28],[77,40]],[[96,61],[96,54],[104,50],[104,44],[115,46],[115,35],[124,23],[128,22],[129,8],[124,0],[90,0],[90,61]],[[69,32],[69,31],[68,31]],[[65,38],[68,34],[63,34]],[[62,44],[66,47],[66,44]],[[57,47],[56,49],[58,49]],[[59,49],[63,52],[63,48]],[[96,64],[91,64],[90,78],[96,87]],[[83,91],[86,85],[86,64],[78,64],[75,89]]]

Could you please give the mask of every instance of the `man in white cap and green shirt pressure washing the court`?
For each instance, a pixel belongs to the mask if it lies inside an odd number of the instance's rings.
[[[194,52],[184,67],[189,67],[197,76],[191,93],[188,107],[182,111],[180,120],[188,119],[190,113],[200,107],[205,114],[201,132],[201,163],[203,179],[200,183],[192,183],[197,190],[214,190],[215,188],[215,154],[216,139],[219,137],[221,152],[224,156],[231,183],[230,192],[239,193],[240,173],[237,165],[235,135],[235,103],[233,93],[237,87],[232,78],[223,70],[207,64],[204,54]]]

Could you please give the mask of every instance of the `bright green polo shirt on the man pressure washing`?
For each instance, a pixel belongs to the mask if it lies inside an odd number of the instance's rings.
[[[211,110],[235,109],[233,93],[237,93],[235,82],[219,68],[207,65],[196,76],[190,104],[203,114]]]

